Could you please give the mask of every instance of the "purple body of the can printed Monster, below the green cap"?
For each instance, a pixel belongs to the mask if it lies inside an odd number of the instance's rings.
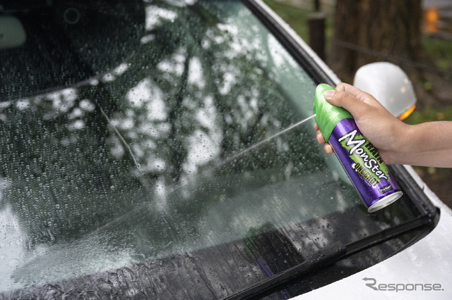
[[[341,120],[328,141],[369,212],[403,195],[380,154],[358,130],[353,119]]]

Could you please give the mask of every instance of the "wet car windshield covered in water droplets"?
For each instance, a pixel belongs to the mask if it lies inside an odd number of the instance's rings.
[[[301,122],[319,82],[241,1],[10,2],[4,295],[221,298],[416,216],[367,213]]]

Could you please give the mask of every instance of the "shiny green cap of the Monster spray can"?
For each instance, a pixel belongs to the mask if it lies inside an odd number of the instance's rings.
[[[316,114],[314,120],[316,120],[317,126],[319,126],[326,142],[330,139],[334,127],[336,127],[341,120],[353,118],[345,108],[335,106],[325,100],[323,93],[329,89],[335,91],[334,87],[326,85],[325,83],[321,83],[317,86],[313,107],[314,113]]]

